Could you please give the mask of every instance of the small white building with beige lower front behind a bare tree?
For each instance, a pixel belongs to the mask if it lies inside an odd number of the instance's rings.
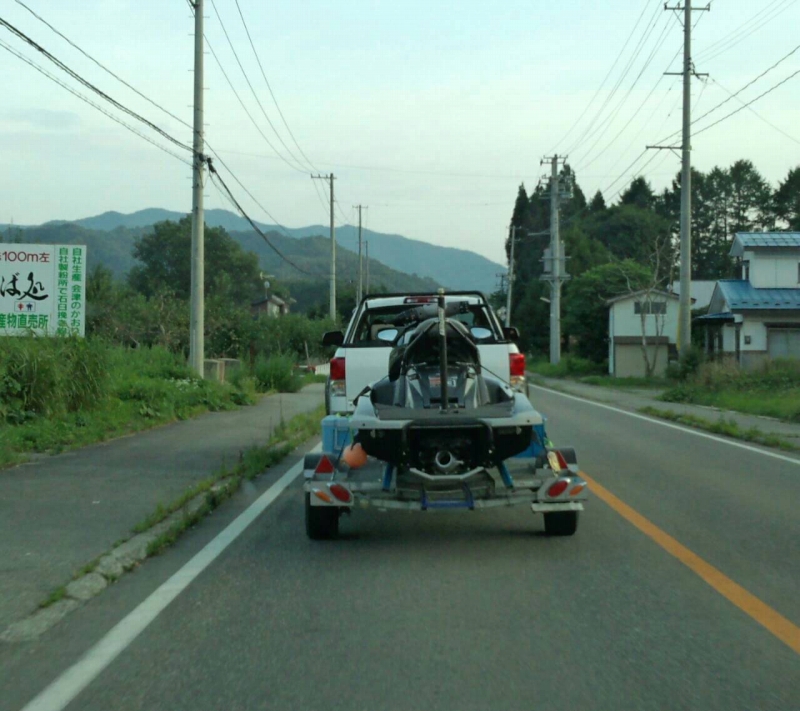
[[[677,355],[678,303],[668,291],[637,291],[609,299],[608,372],[618,378],[662,376]],[[643,334],[646,349],[643,347]]]

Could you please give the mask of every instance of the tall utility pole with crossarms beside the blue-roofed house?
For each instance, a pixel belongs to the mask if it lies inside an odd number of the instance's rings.
[[[678,310],[678,352],[685,354],[692,345],[692,76],[698,74],[692,62],[692,12],[707,12],[706,7],[692,7],[692,0],[684,0],[683,7],[664,5],[665,10],[683,10],[683,71],[667,72],[668,76],[683,77],[683,138],[681,140],[681,252],[680,294]],[[672,150],[673,146],[647,146]]]

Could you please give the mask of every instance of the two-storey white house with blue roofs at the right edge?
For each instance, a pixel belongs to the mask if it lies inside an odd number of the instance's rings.
[[[705,350],[753,368],[771,358],[800,358],[800,232],[740,232],[730,255],[739,279],[720,279],[705,326]]]

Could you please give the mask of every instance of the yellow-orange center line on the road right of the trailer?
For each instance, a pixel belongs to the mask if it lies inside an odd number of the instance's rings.
[[[632,523],[646,536],[654,540],[667,553],[675,556],[681,563],[705,580],[720,595],[730,600],[742,612],[769,630],[786,646],[800,654],[800,627],[787,620],[783,615],[763,603],[755,595],[749,593],[741,585],[733,582],[727,575],[706,563],[700,556],[692,553],[686,546],[678,543],[668,533],[662,531],[654,523],[632,509],[608,489],[598,484],[586,473],[581,475],[589,484],[592,492],[622,518]]]

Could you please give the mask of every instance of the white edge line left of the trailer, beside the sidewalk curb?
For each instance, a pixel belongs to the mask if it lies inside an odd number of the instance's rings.
[[[297,479],[302,471],[301,459],[169,580],[150,593],[109,630],[78,662],[28,702],[22,711],[63,711]]]

